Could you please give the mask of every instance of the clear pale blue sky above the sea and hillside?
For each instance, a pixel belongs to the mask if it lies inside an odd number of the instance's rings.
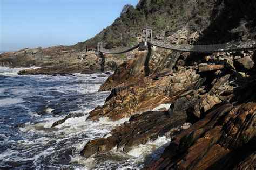
[[[85,41],[138,0],[0,0],[0,51]]]

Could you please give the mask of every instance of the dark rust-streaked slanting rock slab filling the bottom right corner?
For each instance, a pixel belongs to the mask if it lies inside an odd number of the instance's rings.
[[[254,140],[255,123],[256,103],[222,105],[174,137],[161,158],[149,168],[230,168],[239,158],[233,153]]]

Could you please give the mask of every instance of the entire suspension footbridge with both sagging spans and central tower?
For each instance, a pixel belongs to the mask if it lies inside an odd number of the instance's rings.
[[[134,49],[139,48],[139,51],[145,51],[151,47],[159,47],[164,49],[170,49],[172,51],[179,51],[179,52],[198,52],[198,53],[214,53],[214,52],[232,52],[232,51],[245,51],[245,50],[253,50],[256,48],[256,40],[250,40],[246,42],[236,42],[230,41],[227,43],[222,44],[205,44],[205,45],[171,45],[166,44],[163,42],[153,42],[152,41],[152,30],[151,29],[144,29],[142,42],[132,47],[116,50],[116,51],[109,51],[103,48],[102,42],[97,44],[97,52],[105,53],[105,54],[122,54],[133,51]]]

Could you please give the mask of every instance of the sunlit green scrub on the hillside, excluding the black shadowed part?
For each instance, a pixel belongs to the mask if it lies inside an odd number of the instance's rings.
[[[214,2],[214,1],[212,1]],[[214,3],[198,0],[140,0],[136,6],[125,5],[120,17],[95,37],[79,42],[77,49],[85,45],[103,42],[104,48],[112,49],[137,44],[142,29],[153,29],[153,36],[170,36],[188,23],[191,31],[205,26]]]

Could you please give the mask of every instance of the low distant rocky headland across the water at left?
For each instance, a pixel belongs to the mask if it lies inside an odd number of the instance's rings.
[[[126,58],[114,55],[96,55],[94,52],[78,51],[71,46],[49,48],[24,48],[17,52],[0,54],[0,66],[40,67],[24,69],[18,74],[92,74],[115,70]]]

